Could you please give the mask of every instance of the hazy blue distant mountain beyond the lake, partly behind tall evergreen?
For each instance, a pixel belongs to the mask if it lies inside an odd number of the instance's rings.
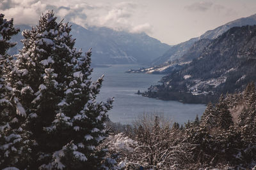
[[[16,25],[20,30],[31,29],[28,25]],[[93,64],[149,64],[159,54],[170,48],[169,45],[151,38],[145,33],[129,33],[113,31],[106,27],[89,27],[85,29],[72,24],[73,38],[76,38],[77,48],[86,52],[92,48]],[[22,48],[21,32],[13,37],[18,44],[9,53],[17,53]]]

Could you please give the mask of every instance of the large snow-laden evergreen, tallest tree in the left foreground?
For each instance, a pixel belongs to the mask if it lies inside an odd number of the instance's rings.
[[[49,11],[22,32],[24,48],[8,78],[36,141],[29,168],[96,169],[106,153],[96,148],[113,99],[96,103],[102,78],[90,79],[91,52],[77,51],[71,26],[56,19]]]

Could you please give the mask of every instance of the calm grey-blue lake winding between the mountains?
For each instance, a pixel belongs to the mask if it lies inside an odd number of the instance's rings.
[[[108,112],[112,122],[132,124],[143,113],[163,113],[164,117],[184,124],[201,116],[204,104],[183,104],[177,101],[161,101],[135,94],[144,92],[150,85],[156,85],[163,74],[125,73],[128,69],[138,69],[138,65],[112,65],[110,67],[94,67],[92,80],[104,74],[104,81],[97,101],[106,101],[115,97],[113,109]]]

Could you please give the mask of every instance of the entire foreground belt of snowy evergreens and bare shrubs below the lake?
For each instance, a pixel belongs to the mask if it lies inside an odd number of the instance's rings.
[[[0,15],[1,169],[256,169],[254,83],[185,125],[157,113],[113,124],[113,99],[95,100],[103,77],[91,81],[91,50],[56,19],[42,15],[12,56],[19,29]]]

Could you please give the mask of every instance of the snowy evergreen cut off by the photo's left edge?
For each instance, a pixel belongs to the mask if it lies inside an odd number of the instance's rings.
[[[6,20],[0,14],[0,169],[24,169],[29,161],[28,134],[22,129],[24,115],[19,112],[19,102],[15,98],[13,102],[9,100],[12,88],[6,84],[6,73],[12,69],[11,56],[6,52],[16,45],[10,39],[18,32],[13,19]]]

